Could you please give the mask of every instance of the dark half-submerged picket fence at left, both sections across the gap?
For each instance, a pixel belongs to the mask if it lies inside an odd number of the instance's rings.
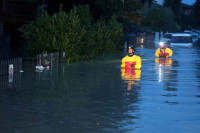
[[[31,58],[35,64],[36,58]],[[65,62],[65,52],[37,55],[37,65],[50,65]],[[0,88],[15,88],[21,84],[22,58],[0,60]]]

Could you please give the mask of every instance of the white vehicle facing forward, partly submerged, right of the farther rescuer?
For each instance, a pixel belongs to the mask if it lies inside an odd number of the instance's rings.
[[[192,35],[188,33],[174,33],[171,36],[170,46],[193,46]]]

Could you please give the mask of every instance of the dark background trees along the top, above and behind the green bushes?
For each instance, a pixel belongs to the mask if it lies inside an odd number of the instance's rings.
[[[48,12],[57,10],[59,3],[66,11],[73,5],[88,4],[94,20],[101,17],[109,20],[115,14],[127,28],[142,25],[157,30],[181,31],[200,27],[200,0],[196,0],[189,14],[181,12],[182,0],[164,0],[163,6],[154,4],[155,0],[47,0]]]

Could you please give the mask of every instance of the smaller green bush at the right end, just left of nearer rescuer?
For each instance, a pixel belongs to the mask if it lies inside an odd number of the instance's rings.
[[[95,25],[95,49],[94,55],[111,53],[121,48],[123,39],[123,25],[117,22],[115,16],[106,24],[105,20],[100,19]]]

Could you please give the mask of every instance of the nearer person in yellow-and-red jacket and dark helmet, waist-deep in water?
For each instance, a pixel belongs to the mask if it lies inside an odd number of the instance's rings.
[[[135,49],[132,46],[130,46],[128,48],[128,55],[122,58],[121,60],[122,68],[134,68],[134,69],[141,68],[142,60],[140,56],[137,56],[134,53],[135,53]]]

